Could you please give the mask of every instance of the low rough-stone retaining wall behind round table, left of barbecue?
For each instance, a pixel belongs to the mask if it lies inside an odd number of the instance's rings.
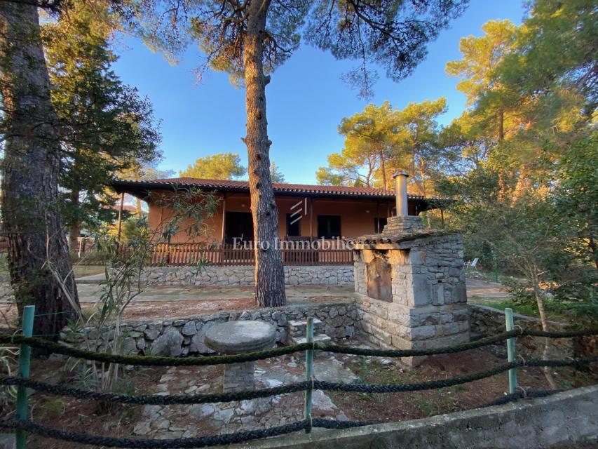
[[[353,302],[328,302],[271,309],[222,311],[218,314],[203,314],[182,319],[145,320],[124,323],[121,327],[124,354],[149,353],[154,356],[186,356],[188,354],[210,354],[205,346],[205,333],[217,323],[235,320],[261,320],[276,326],[276,342],[287,342],[287,322],[313,316],[325,324],[325,332],[333,340],[353,337],[361,320],[358,307]],[[84,338],[95,340],[97,334],[92,329],[83,333],[72,333],[64,328],[61,340],[67,344],[84,346]],[[105,339],[113,340],[114,335],[104,333]]]

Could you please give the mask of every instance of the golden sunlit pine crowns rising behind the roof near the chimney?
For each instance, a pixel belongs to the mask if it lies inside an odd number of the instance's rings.
[[[318,169],[318,182],[386,190],[393,188],[390,180],[396,170],[407,170],[412,189],[423,195],[432,192],[432,177],[454,159],[451,148],[440,144],[437,117],[446,111],[446,104],[439,98],[395,109],[383,102],[342,119],[339,133],[345,146],[341,153],[328,156],[327,167]]]

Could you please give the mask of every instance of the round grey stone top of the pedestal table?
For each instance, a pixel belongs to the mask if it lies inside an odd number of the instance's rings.
[[[205,345],[224,354],[268,349],[276,341],[276,328],[264,321],[229,321],[216,324],[205,334]]]

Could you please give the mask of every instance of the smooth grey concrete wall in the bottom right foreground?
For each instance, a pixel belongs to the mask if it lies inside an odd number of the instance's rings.
[[[594,448],[598,441],[598,386],[548,398],[388,422],[353,429],[254,441],[254,449],[545,449]],[[586,442],[585,445],[580,443]],[[231,449],[249,447],[247,443]]]

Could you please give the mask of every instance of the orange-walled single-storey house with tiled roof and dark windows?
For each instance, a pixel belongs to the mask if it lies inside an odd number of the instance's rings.
[[[253,239],[250,192],[247,181],[207,180],[177,177],[147,181],[116,180],[116,192],[130,194],[147,201],[149,226],[156,227],[170,213],[156,204],[156,199],[176,189],[201,189],[212,192],[219,205],[208,222],[210,240],[222,243]],[[371,187],[301,185],[274,183],[278,206],[280,240],[337,239],[375,234],[386,225],[386,218],[395,215],[395,193]],[[409,215],[439,207],[435,199],[408,196]],[[188,242],[180,232],[171,243]]]

